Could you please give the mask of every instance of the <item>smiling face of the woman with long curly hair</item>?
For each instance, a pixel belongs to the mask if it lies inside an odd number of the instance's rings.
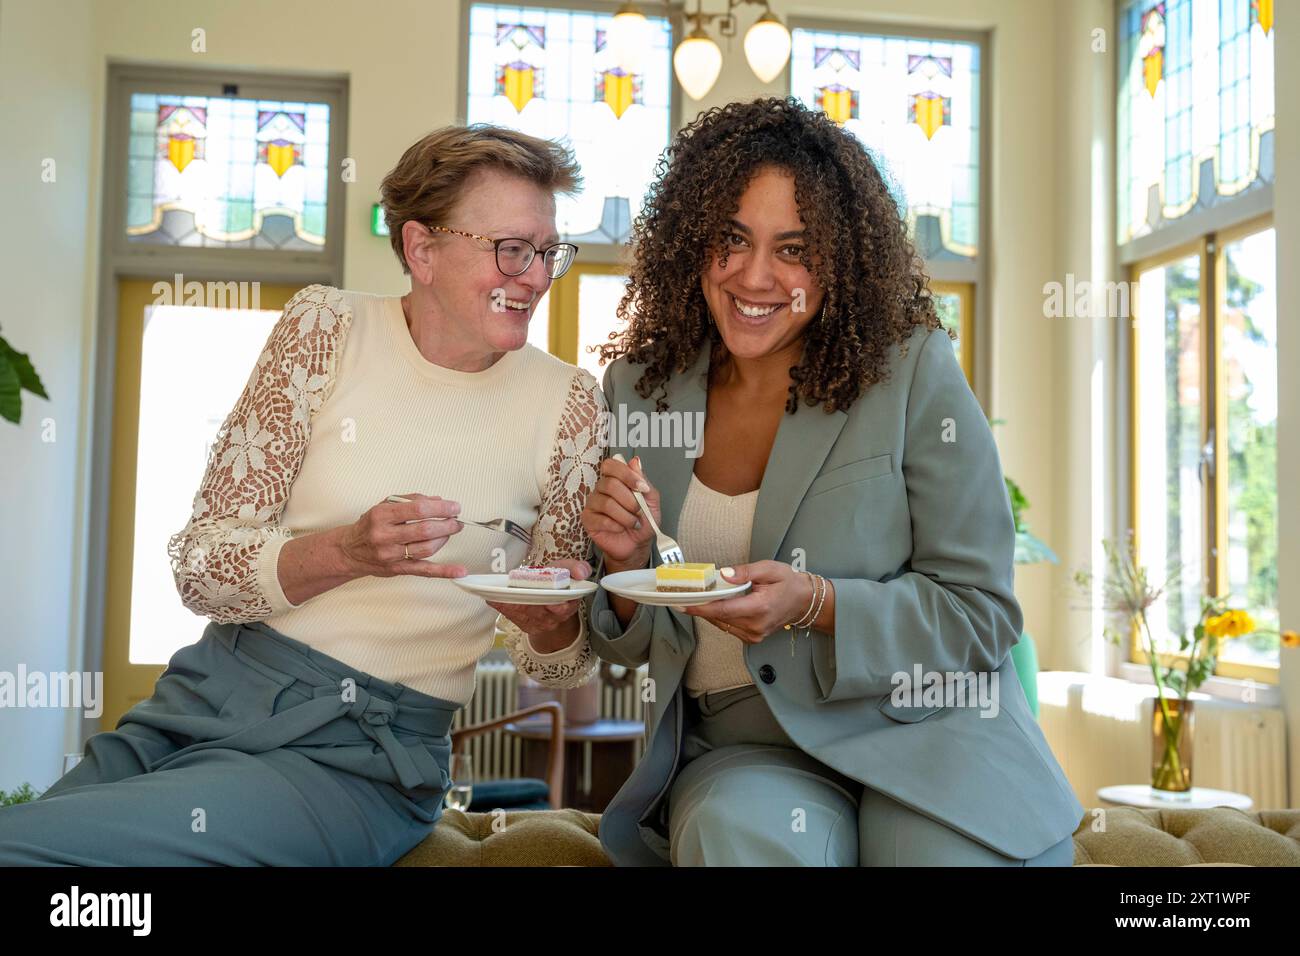
[[[789,173],[754,174],[724,247],[727,263],[715,256],[699,284],[727,350],[758,359],[794,349],[826,293],[800,261],[807,239]]]

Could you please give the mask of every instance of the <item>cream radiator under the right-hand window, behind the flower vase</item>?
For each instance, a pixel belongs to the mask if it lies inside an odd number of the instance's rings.
[[[1084,806],[1097,790],[1150,782],[1156,688],[1072,671],[1039,674],[1039,723]],[[1245,793],[1254,809],[1287,806],[1286,723],[1279,708],[1192,695],[1192,784]]]

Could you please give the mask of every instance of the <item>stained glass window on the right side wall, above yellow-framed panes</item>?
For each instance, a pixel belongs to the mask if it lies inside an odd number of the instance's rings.
[[[1119,242],[1273,182],[1273,0],[1128,0]]]

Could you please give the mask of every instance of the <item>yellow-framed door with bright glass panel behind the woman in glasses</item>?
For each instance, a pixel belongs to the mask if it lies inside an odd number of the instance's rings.
[[[168,538],[295,285],[121,280],[104,611],[104,714],[147,698],[207,618],[181,604]],[[202,302],[203,304],[183,304]]]

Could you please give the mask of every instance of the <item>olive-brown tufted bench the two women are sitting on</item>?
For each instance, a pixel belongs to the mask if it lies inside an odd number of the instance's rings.
[[[495,830],[493,821],[490,813],[446,810],[395,865],[610,866],[598,814],[517,810]],[[1300,810],[1088,810],[1074,831],[1074,865],[1300,866]]]

